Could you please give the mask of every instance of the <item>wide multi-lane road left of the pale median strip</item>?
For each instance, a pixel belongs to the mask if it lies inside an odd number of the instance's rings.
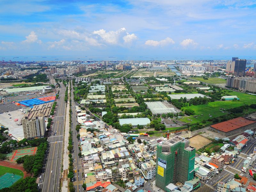
[[[62,83],[60,83],[60,87],[59,99],[53,117],[52,130],[48,138],[49,148],[46,153],[47,158],[44,161],[41,181],[39,181],[39,191],[57,192],[60,187],[63,127],[66,111],[66,102],[64,101],[66,87]],[[55,135],[54,132],[56,132]]]

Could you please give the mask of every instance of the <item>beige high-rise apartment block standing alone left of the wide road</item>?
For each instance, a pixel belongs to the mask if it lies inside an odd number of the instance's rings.
[[[21,123],[24,138],[34,139],[36,137],[44,137],[46,127],[43,113],[40,113],[37,116],[33,116],[32,113],[25,114],[25,116],[21,119]]]

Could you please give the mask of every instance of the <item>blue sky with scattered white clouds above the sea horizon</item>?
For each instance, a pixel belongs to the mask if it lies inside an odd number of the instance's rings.
[[[255,0],[1,0],[0,7],[1,57],[256,52]]]

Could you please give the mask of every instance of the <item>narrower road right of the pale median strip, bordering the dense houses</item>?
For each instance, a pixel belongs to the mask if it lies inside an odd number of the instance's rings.
[[[77,119],[76,119],[76,104],[74,102],[74,86],[71,83],[71,109],[72,109],[72,128],[73,128],[73,150],[72,150],[72,158],[74,159],[74,188],[77,192],[83,191],[82,185],[83,185],[83,178],[82,178],[82,166],[81,166],[81,158],[78,157],[79,148],[79,141],[76,138],[78,132],[76,131],[76,125],[77,125]],[[77,172],[79,170],[79,172]]]

